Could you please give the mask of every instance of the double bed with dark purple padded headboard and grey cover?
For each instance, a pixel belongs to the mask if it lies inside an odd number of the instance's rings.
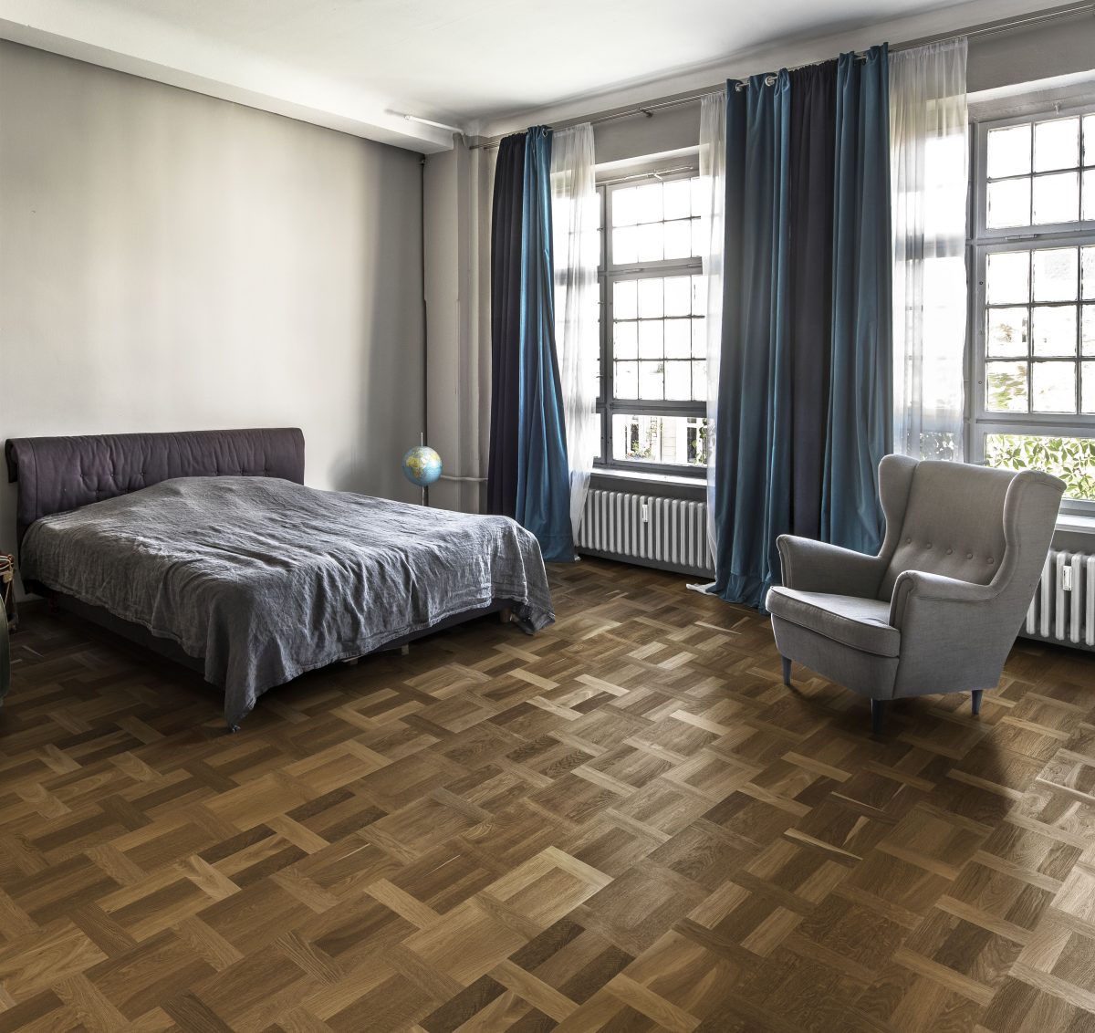
[[[303,486],[299,429],[16,438],[24,585],[189,663],[235,731],[263,692],[496,610],[554,620],[507,517]]]

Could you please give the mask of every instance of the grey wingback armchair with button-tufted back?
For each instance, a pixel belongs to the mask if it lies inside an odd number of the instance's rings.
[[[1034,596],[1064,484],[887,456],[878,468],[878,555],[780,536],[783,586],[768,594],[783,680],[791,662],[886,702],[995,687]]]

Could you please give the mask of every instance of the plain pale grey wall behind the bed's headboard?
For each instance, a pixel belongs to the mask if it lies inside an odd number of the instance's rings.
[[[410,151],[0,42],[0,439],[293,425],[309,484],[415,498],[419,175]]]

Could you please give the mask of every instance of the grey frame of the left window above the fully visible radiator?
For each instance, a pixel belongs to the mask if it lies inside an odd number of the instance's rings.
[[[646,401],[639,399],[616,399],[612,393],[614,365],[612,358],[612,328],[614,325],[612,286],[619,280],[662,278],[667,276],[704,275],[703,259],[662,259],[656,262],[631,262],[616,265],[612,256],[612,194],[625,186],[641,185],[643,181],[659,180],[668,183],[675,180],[694,179],[700,174],[694,159],[688,165],[678,162],[671,170],[650,169],[631,175],[608,177],[599,181],[597,191],[601,205],[601,260],[597,268],[600,289],[600,395],[597,413],[601,421],[601,455],[595,460],[595,470],[618,470],[627,473],[652,473],[669,477],[706,477],[706,466],[690,463],[648,462],[641,459],[615,459],[612,455],[613,416],[681,416],[707,417],[707,403],[680,400]],[[704,315],[706,318],[706,314]]]

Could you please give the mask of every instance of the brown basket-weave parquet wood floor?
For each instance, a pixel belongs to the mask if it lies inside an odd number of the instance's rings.
[[[552,571],[267,696],[28,609],[0,1031],[1095,1030],[1095,657],[867,704],[673,575]]]

